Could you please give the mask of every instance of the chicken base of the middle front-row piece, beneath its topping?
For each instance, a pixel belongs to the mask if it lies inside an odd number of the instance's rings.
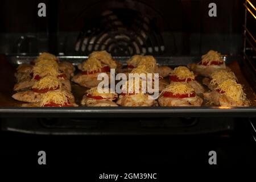
[[[118,105],[121,106],[153,106],[155,100],[148,99],[148,94],[133,94],[130,96],[120,95],[117,101]]]

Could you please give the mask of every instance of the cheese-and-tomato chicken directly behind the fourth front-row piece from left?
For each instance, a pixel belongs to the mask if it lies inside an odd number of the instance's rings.
[[[187,67],[176,67],[170,75],[171,82],[187,82],[188,85],[192,86],[197,94],[204,93],[204,87],[195,80],[193,72],[189,71]]]

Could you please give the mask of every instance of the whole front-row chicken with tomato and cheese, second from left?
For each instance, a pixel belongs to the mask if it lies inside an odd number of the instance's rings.
[[[118,97],[117,93],[108,91],[107,93],[100,93],[97,87],[93,87],[86,91],[84,97],[82,97],[81,104],[86,106],[118,106],[113,102]]]

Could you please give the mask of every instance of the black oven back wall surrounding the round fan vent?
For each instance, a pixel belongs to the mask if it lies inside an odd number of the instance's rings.
[[[37,15],[38,3],[47,6],[47,17]],[[208,16],[208,5],[217,5],[217,17]],[[0,53],[49,51],[86,55],[76,51],[87,24],[106,10],[130,9],[148,17],[163,40],[164,51],[152,55],[200,55],[209,49],[240,55],[242,51],[243,1],[15,1],[0,2]],[[123,13],[126,13],[123,11]],[[122,13],[121,13],[122,14]],[[90,28],[93,28],[90,26]],[[84,31],[86,28],[84,29]],[[88,29],[89,30],[89,29]]]

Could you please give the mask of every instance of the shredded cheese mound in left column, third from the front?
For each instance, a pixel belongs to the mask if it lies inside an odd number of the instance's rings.
[[[52,64],[39,64],[33,67],[33,73],[35,75],[39,75],[40,77],[44,76],[57,76],[59,75],[59,71]]]

